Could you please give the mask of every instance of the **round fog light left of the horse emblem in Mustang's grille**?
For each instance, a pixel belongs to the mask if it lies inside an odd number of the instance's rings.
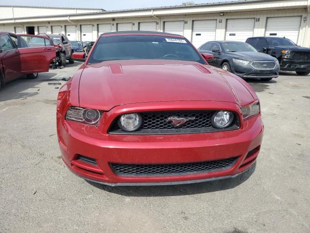
[[[118,120],[118,126],[126,132],[133,132],[138,130],[141,124],[142,116],[137,113],[124,114]]]

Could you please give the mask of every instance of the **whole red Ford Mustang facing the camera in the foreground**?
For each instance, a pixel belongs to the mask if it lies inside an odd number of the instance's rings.
[[[59,92],[63,162],[112,186],[197,183],[247,170],[262,143],[260,103],[245,81],[209,66],[210,56],[180,35],[102,34]]]

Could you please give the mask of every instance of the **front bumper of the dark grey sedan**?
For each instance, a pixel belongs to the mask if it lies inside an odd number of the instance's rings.
[[[268,79],[277,78],[279,76],[279,65],[273,69],[255,69],[250,64],[251,63],[246,66],[242,66],[236,63],[232,63],[232,73],[242,79]]]

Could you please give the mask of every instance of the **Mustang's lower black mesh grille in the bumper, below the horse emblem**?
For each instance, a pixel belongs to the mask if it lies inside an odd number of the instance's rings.
[[[231,168],[238,157],[185,164],[110,164],[120,176],[173,176],[208,173]]]

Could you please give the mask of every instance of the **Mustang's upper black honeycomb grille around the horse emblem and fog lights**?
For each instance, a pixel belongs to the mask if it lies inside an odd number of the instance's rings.
[[[143,123],[136,132],[122,131],[117,122],[118,117],[112,123],[109,133],[130,133],[130,134],[171,134],[171,133],[206,133],[238,129],[238,116],[234,116],[233,124],[225,129],[217,129],[212,126],[211,117],[217,111],[171,111],[171,112],[142,112]],[[194,117],[181,126],[173,126],[166,122],[171,116]]]

